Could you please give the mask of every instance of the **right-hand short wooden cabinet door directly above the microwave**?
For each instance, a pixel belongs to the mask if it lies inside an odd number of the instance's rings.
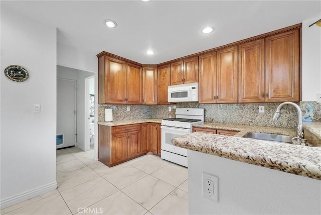
[[[184,60],[183,83],[195,83],[199,81],[198,57]]]

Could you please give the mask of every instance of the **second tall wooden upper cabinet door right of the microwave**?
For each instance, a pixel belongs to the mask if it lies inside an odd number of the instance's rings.
[[[216,102],[237,103],[237,46],[217,51]]]

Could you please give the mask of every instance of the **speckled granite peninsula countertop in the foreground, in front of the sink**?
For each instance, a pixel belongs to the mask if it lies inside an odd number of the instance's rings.
[[[233,129],[237,130],[237,127]],[[321,147],[200,132],[174,138],[172,143],[194,151],[321,180]]]

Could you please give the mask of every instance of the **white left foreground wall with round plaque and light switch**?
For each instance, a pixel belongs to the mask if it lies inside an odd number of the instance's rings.
[[[1,208],[57,188],[56,41],[56,28],[1,7],[1,71],[29,72],[21,83],[0,75]]]

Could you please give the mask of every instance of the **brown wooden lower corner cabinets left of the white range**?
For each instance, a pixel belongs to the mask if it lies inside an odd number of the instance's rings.
[[[148,152],[161,156],[161,124],[98,125],[98,160],[111,167]]]

